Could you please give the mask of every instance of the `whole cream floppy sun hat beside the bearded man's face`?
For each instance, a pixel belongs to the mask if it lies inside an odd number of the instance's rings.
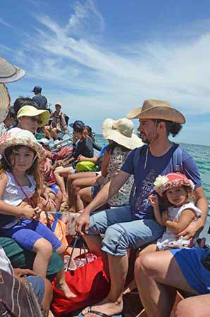
[[[103,135],[105,139],[127,147],[127,149],[135,149],[142,147],[142,140],[133,132],[134,127],[131,120],[127,118],[112,120],[106,119],[103,123]]]

